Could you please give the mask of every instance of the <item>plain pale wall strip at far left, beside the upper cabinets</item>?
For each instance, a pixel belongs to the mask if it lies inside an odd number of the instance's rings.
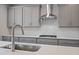
[[[7,6],[0,5],[0,36],[7,34],[9,34],[7,28]]]

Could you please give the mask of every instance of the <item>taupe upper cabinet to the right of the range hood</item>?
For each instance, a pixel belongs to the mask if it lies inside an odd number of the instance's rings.
[[[59,26],[79,26],[79,5],[59,5]]]

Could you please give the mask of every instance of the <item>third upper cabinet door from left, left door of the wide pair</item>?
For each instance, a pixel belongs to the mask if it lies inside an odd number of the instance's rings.
[[[32,26],[32,8],[23,7],[23,26]]]

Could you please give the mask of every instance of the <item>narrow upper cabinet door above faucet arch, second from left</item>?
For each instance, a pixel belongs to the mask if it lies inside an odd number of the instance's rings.
[[[15,7],[15,24],[22,25],[22,7]]]

